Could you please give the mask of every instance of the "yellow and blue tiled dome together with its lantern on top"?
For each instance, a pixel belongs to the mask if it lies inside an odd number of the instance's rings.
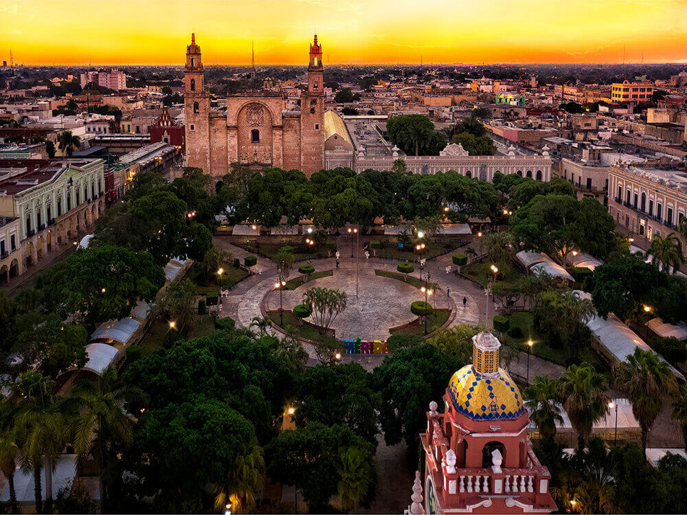
[[[499,367],[500,346],[491,332],[473,336],[473,364],[449,380],[453,408],[472,420],[515,419],[525,411],[515,381]]]

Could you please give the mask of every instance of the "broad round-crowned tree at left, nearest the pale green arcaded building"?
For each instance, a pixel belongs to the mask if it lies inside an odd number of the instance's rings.
[[[54,264],[42,289],[50,310],[61,317],[76,313],[92,330],[96,323],[126,317],[138,299],[153,300],[164,282],[150,254],[98,244]]]

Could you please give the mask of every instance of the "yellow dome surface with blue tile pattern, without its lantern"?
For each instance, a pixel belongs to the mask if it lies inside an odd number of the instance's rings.
[[[453,374],[447,390],[455,410],[472,420],[512,419],[525,410],[517,385],[502,368],[498,376],[486,377],[466,365]]]

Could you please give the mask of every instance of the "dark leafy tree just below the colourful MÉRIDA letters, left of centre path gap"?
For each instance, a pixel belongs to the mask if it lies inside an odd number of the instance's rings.
[[[317,421],[350,428],[376,445],[376,411],[381,397],[372,389],[372,374],[358,363],[308,368],[298,385],[298,426]]]

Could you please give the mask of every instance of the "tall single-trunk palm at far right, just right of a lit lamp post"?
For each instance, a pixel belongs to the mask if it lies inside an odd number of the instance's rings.
[[[636,348],[627,356],[627,362],[613,367],[618,387],[627,392],[632,413],[642,429],[642,449],[646,455],[649,431],[656,417],[663,410],[664,393],[677,389],[677,382],[670,365],[651,350]]]

